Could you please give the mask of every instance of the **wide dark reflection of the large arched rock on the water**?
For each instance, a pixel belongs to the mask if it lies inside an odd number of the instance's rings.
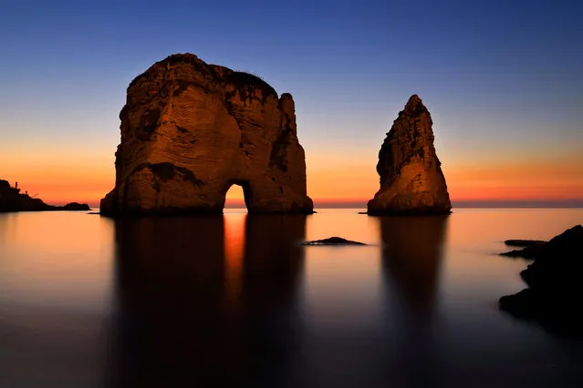
[[[269,386],[293,367],[306,217],[240,222],[116,222],[109,387]]]

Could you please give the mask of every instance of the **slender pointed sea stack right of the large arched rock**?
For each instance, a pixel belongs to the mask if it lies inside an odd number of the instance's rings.
[[[369,214],[446,214],[452,209],[441,162],[433,147],[432,117],[411,96],[379,152],[380,189]]]

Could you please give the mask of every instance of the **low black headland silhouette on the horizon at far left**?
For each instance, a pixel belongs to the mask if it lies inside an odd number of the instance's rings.
[[[22,194],[17,187],[11,187],[7,180],[0,180],[0,213],[17,211],[57,211],[57,210],[89,210],[87,204],[78,202],[65,206],[51,206],[42,199],[32,198],[27,193]]]

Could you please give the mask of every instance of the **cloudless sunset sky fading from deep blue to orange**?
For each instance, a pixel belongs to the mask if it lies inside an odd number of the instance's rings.
[[[578,1],[2,0],[0,178],[99,203],[131,79],[191,52],[292,93],[317,205],[374,195],[411,94],[453,201],[583,199],[582,20]]]

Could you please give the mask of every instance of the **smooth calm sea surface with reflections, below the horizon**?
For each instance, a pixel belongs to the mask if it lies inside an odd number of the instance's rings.
[[[583,209],[359,210],[0,215],[0,387],[583,386],[583,342],[497,307],[503,241]],[[331,236],[369,245],[298,244]]]

